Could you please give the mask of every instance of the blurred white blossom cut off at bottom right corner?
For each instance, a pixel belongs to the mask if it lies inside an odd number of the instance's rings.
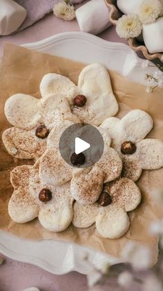
[[[162,291],[162,283],[158,280],[158,278],[151,274],[147,278],[144,279],[143,283],[143,291]]]

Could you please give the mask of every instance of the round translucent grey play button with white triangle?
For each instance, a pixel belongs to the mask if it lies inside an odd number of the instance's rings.
[[[91,167],[104,151],[104,140],[97,128],[90,124],[73,124],[66,128],[59,140],[62,158],[73,167]]]

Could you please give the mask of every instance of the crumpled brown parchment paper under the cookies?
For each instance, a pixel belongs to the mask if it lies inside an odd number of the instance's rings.
[[[4,103],[10,95],[21,92],[39,98],[39,83],[44,74],[49,72],[63,74],[77,83],[79,72],[84,66],[84,64],[65,58],[17,47],[14,44],[6,44],[0,68],[0,133],[10,127],[3,113]],[[110,72],[110,74],[113,92],[120,103],[119,115],[123,116],[130,109],[146,110],[155,122],[155,127],[148,136],[163,140],[163,90],[155,88],[153,94],[146,94],[143,85],[131,83],[115,72]],[[143,172],[140,181],[137,183],[142,191],[142,203],[129,214],[131,227],[122,238],[109,240],[101,238],[95,231],[95,226],[79,229],[70,225],[62,233],[51,233],[46,231],[37,219],[26,224],[12,222],[8,216],[8,200],[12,194],[10,170],[25,163],[29,164],[32,161],[12,158],[1,142],[0,229],[30,240],[68,240],[104,251],[116,257],[120,256],[122,247],[128,240],[135,240],[147,244],[153,250],[153,263],[156,261],[157,237],[153,238],[148,234],[148,226],[153,219],[162,217],[162,211],[151,198],[151,193],[153,188],[162,187],[163,189],[163,169]]]

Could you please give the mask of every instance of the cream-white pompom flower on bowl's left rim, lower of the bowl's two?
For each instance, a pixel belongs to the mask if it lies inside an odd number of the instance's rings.
[[[136,38],[142,31],[142,24],[137,15],[123,15],[117,21],[117,34],[120,38]]]

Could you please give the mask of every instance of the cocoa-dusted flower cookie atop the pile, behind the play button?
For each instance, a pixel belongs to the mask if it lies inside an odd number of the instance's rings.
[[[72,197],[80,203],[90,204],[99,198],[103,183],[113,181],[122,172],[122,160],[115,149],[110,147],[111,138],[108,130],[98,127],[104,140],[104,151],[101,158],[88,168],[78,170],[61,157],[59,151],[59,138],[64,128],[70,122],[65,121],[56,125],[48,135],[47,149],[41,156],[39,176],[44,183],[60,185],[71,180],[70,190]],[[82,129],[82,128],[81,128]],[[66,145],[65,145],[66,147]]]

